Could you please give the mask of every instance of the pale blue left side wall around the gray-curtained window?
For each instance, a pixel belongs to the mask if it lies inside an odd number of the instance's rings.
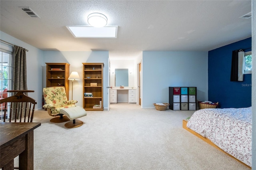
[[[0,31],[0,37],[1,40],[28,49],[26,52],[27,86],[28,90],[35,91],[34,93],[28,93],[28,95],[37,101],[37,105],[35,107],[36,109],[42,108],[43,51],[32,45],[29,45],[28,43],[24,43],[2,31]]]

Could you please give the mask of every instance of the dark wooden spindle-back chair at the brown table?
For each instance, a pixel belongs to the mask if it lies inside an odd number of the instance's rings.
[[[7,92],[16,93],[11,97],[7,97],[0,100],[0,104],[4,103],[4,122],[6,122],[6,115],[10,113],[9,122],[22,122],[24,117],[24,123],[33,121],[35,105],[37,104],[34,99],[25,95],[25,92],[34,92],[32,90],[9,90]],[[8,112],[9,109],[9,112]],[[12,114],[15,113],[15,114]],[[20,113],[20,116],[18,116]],[[14,115],[14,117],[12,117]]]

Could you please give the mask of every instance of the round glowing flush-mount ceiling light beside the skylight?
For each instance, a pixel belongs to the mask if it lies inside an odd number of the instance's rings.
[[[107,25],[108,18],[100,13],[92,13],[88,15],[87,22],[94,27],[104,27]]]

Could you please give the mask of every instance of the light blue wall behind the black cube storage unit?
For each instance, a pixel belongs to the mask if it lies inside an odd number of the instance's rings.
[[[142,108],[169,103],[168,87],[197,87],[197,99],[208,100],[207,51],[143,51]]]

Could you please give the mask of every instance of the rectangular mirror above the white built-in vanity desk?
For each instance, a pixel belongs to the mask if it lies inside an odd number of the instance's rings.
[[[128,87],[129,86],[128,82],[129,82],[128,69],[115,69],[115,86]]]

